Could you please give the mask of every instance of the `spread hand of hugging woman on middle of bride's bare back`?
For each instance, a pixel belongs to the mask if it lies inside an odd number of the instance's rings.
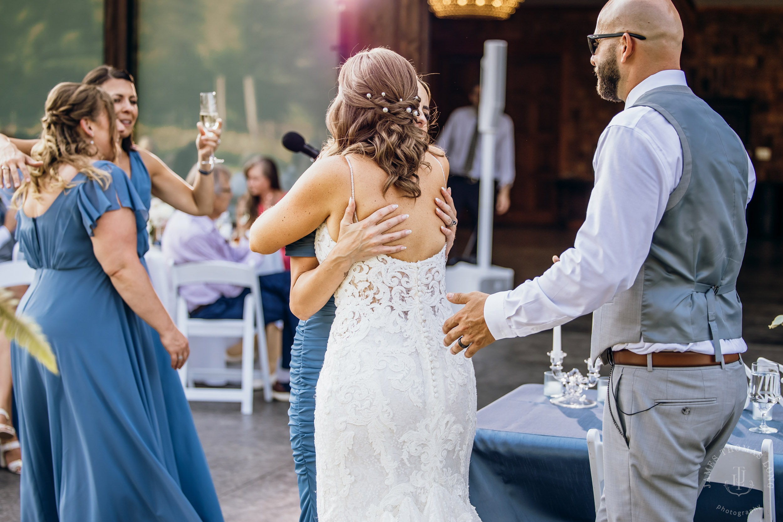
[[[387,205],[355,223],[353,216],[356,211],[356,203],[353,198],[348,200],[348,207],[345,207],[345,214],[340,221],[340,237],[337,239],[337,245],[330,253],[330,257],[345,257],[351,263],[355,263],[379,254],[396,254],[405,250],[402,245],[393,247],[387,245],[387,243],[393,243],[408,236],[411,232],[410,230],[399,230],[398,232],[386,233],[408,218],[408,214],[400,214],[382,221],[396,209],[397,205]]]

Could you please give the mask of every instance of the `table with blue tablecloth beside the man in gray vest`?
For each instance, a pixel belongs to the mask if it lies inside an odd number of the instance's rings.
[[[586,392],[595,398],[595,390]],[[783,408],[767,423],[783,431]],[[525,384],[478,411],[471,456],[471,503],[484,522],[585,522],[595,520],[587,430],[601,430],[603,405],[566,409],[550,404],[541,384]],[[729,444],[761,451],[774,446],[775,506],[783,516],[783,434],[754,434],[751,412],[742,412]],[[695,522],[747,520],[761,506],[761,491],[707,483]]]

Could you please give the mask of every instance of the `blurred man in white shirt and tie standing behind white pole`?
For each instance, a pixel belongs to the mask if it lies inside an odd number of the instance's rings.
[[[467,213],[473,228],[471,238],[463,254],[449,259],[449,265],[456,261],[476,262],[476,227],[478,226],[478,185],[481,178],[482,146],[478,132],[478,100],[481,88],[475,85],[469,99],[471,105],[455,109],[443,131],[438,136],[438,146],[446,151],[451,171],[449,185],[456,207],[456,215],[461,218]],[[500,129],[495,143],[495,182],[497,196],[495,211],[505,214],[511,207],[511,186],[514,185],[516,170],[514,167],[514,122],[508,114],[500,119]],[[467,225],[467,224],[463,224]]]

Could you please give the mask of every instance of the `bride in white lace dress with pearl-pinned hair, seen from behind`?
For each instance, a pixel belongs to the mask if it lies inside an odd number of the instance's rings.
[[[432,200],[448,161],[414,124],[417,87],[410,63],[388,49],[348,59],[321,157],[251,231],[251,246],[265,253],[317,226],[323,284],[340,281],[316,387],[319,522],[480,522],[467,488],[473,366],[442,344],[451,308]],[[332,238],[359,233],[369,225],[355,221],[388,203],[399,216],[385,221],[395,240],[366,261],[334,261],[345,256]],[[409,215],[413,233],[399,225]]]

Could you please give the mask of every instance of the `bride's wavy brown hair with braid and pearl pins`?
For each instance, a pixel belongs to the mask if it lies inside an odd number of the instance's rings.
[[[384,194],[395,186],[408,197],[421,196],[419,167],[431,138],[417,128],[416,70],[390,49],[377,47],[349,58],[337,78],[339,91],[327,112],[330,138],[323,156],[355,153],[369,157],[388,178]]]

